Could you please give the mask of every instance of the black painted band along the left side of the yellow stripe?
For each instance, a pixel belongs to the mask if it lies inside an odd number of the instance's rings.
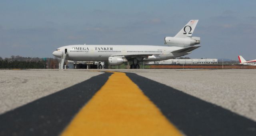
[[[0,136],[60,134],[80,108],[100,90],[111,74],[94,76],[0,115]]]

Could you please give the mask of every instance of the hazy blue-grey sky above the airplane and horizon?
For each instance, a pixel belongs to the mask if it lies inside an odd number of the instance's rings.
[[[164,45],[189,20],[190,58],[256,59],[255,0],[1,0],[0,56],[54,57],[72,44]]]

